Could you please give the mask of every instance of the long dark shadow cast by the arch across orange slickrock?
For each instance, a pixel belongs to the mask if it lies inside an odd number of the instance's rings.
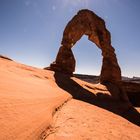
[[[54,77],[57,85],[70,93],[74,99],[104,108],[140,126],[140,113],[130,103],[114,100],[111,96],[102,93],[95,95],[80,86],[66,74],[55,72]],[[113,92],[111,94],[114,96]]]

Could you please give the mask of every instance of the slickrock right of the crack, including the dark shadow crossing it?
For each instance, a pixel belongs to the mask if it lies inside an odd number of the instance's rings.
[[[139,107],[114,100],[104,85],[61,78],[56,83],[75,99],[56,112],[46,140],[139,140]]]

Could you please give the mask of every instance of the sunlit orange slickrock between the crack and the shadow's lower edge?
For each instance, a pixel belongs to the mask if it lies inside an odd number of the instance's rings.
[[[140,128],[97,106],[72,99],[54,117],[46,140],[139,140]]]

